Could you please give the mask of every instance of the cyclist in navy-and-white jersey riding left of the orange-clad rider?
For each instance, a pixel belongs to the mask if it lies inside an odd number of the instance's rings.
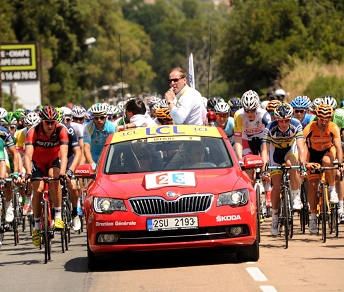
[[[305,165],[306,153],[304,150],[304,138],[302,126],[299,120],[292,118],[293,108],[290,104],[282,102],[275,109],[276,120],[272,121],[264,130],[262,144],[262,159],[265,164],[280,166],[286,163],[287,166],[297,165],[298,161]],[[302,171],[302,176],[305,175]],[[262,177],[269,174],[264,173]],[[300,180],[296,170],[290,170],[291,196],[293,209],[302,208],[300,198]],[[269,180],[269,179],[268,179]],[[271,234],[278,234],[278,207],[282,175],[280,170],[271,172],[272,180],[272,226]]]

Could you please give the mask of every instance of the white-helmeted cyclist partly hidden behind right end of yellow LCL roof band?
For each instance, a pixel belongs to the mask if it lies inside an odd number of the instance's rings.
[[[230,107],[224,101],[218,102],[214,111],[216,114],[215,126],[220,127],[225,131],[227,137],[231,139],[232,145],[234,144],[234,118],[229,116]]]

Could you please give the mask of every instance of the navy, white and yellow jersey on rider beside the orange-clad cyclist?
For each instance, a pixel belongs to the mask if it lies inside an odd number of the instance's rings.
[[[303,138],[302,125],[299,120],[292,118],[287,131],[282,132],[277,120],[272,121],[264,130],[263,142],[272,144],[275,148],[291,147],[296,139]]]

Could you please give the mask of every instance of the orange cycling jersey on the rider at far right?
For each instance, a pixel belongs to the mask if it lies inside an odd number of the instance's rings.
[[[333,122],[329,122],[323,132],[319,129],[317,122],[313,122],[304,129],[303,134],[307,147],[316,151],[326,151],[334,145],[334,139],[340,139],[339,127]]]

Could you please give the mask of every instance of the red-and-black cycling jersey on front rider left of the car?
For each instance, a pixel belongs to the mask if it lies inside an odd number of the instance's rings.
[[[32,160],[49,165],[51,161],[60,157],[60,145],[68,145],[67,128],[62,124],[56,124],[53,134],[48,138],[43,126],[38,124],[29,130],[26,145],[34,146]]]

